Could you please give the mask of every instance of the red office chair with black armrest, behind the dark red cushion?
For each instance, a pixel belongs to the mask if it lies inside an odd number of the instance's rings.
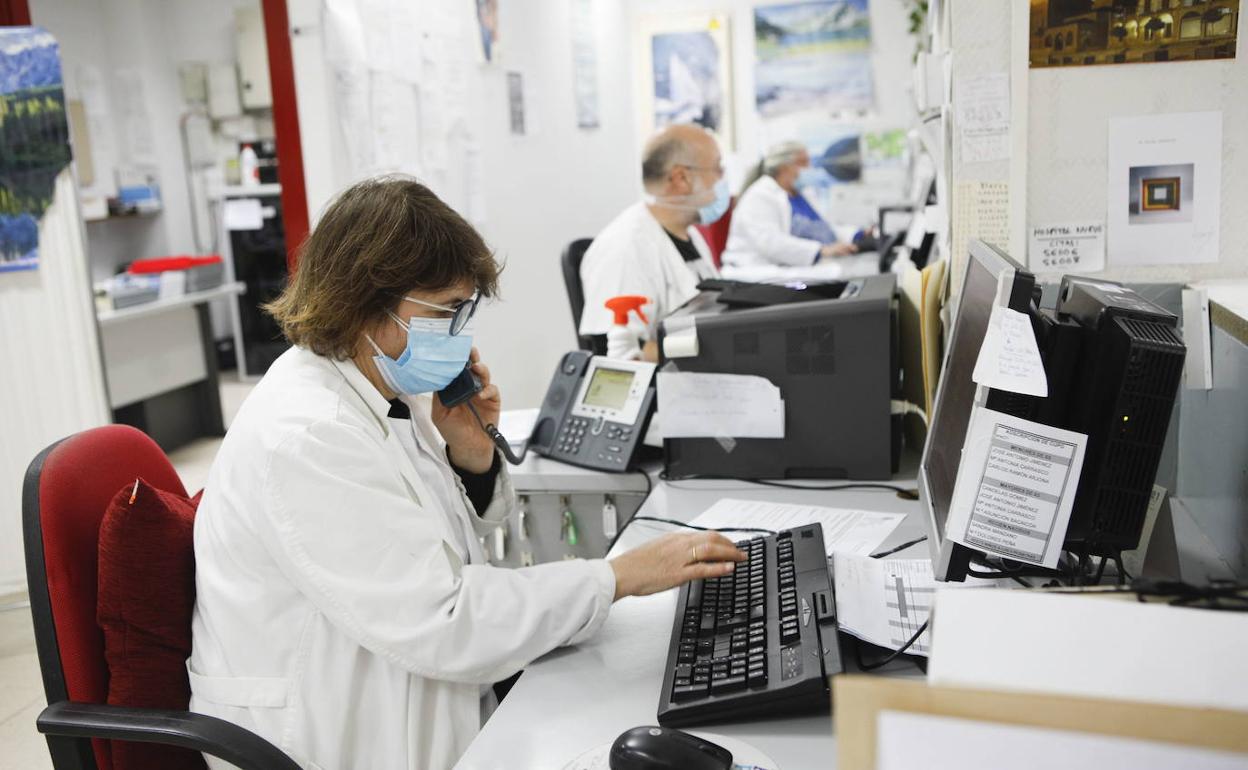
[[[142,432],[94,428],[30,463],[21,492],[30,612],[47,708],[36,726],[56,770],[112,770],[105,739],[181,746],[243,770],[298,770],[265,739],[231,723],[163,709],[107,705],[104,634],[96,624],[100,522],[124,484],[142,477],[185,495],[168,458]]]

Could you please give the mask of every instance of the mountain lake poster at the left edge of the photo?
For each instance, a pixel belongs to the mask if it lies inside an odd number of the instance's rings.
[[[56,39],[0,29],[0,272],[39,266],[39,220],[69,162]]]

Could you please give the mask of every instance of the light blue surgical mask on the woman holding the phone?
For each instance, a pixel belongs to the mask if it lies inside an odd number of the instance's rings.
[[[451,333],[451,318],[412,318],[407,323],[391,313],[407,329],[407,348],[391,358],[368,337],[377,354],[373,362],[389,389],[407,396],[433,393],[451,384],[468,366],[472,334]],[[468,331],[468,329],[464,329]]]

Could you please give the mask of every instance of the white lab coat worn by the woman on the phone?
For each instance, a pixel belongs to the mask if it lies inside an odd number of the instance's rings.
[[[303,768],[449,768],[480,728],[482,685],[588,638],[615,593],[602,559],[485,564],[469,533],[512,510],[509,477],[469,513],[429,397],[407,402],[441,478],[418,473],[353,363],[287,351],[231,426],[195,522],[191,710]]]

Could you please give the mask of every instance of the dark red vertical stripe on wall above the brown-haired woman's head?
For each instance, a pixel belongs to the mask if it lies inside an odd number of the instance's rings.
[[[291,56],[286,0],[262,0],[262,7],[265,39],[268,44],[268,80],[273,89],[277,178],[282,183],[282,217],[286,225],[286,265],[295,272],[300,245],[308,235],[308,197],[303,182],[300,111],[295,97],[295,60]]]

